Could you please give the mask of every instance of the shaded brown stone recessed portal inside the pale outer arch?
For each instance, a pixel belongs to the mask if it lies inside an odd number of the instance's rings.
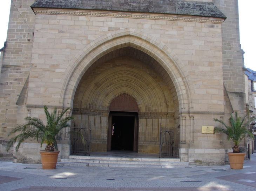
[[[125,95],[134,101],[120,106]],[[133,47],[123,47],[102,56],[85,72],[74,96],[73,115],[77,123],[93,125],[92,151],[113,149],[111,117],[125,114],[133,115],[138,129],[134,128],[133,150],[159,153],[161,124],[178,126],[177,97],[170,76],[154,58]],[[131,103],[135,108],[129,107]],[[136,113],[116,113],[122,111]]]

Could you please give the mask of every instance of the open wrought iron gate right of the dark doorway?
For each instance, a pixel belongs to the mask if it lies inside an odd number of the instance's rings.
[[[179,157],[180,126],[160,128],[160,158]]]

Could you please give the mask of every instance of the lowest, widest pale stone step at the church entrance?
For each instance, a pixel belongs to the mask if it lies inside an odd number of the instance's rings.
[[[112,163],[82,163],[82,162],[58,162],[57,166],[78,167],[133,167],[133,168],[184,168],[186,165],[143,165],[143,164],[112,164]]]

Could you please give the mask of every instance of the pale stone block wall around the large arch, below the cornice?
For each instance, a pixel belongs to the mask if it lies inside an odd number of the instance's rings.
[[[39,14],[37,17],[35,37],[40,42],[33,45],[34,66],[29,79],[28,105],[60,105],[62,84],[59,82],[68,74],[62,68],[74,67],[68,60],[72,60],[89,42],[110,34],[113,28],[119,30],[132,27],[159,39],[180,59],[184,68],[181,73],[188,74],[187,88],[191,89],[191,100],[195,103],[190,110],[223,111],[221,24],[70,15]],[[211,36],[205,37],[206,33]],[[59,43],[47,43],[52,37]],[[155,53],[155,50],[151,51]],[[42,80],[35,87],[38,78]],[[47,96],[45,92],[48,92]],[[204,96],[206,93],[209,95]],[[186,107],[186,110],[189,108]]]

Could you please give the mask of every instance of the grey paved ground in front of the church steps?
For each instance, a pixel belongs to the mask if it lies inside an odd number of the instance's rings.
[[[230,166],[180,168],[70,167],[0,161],[0,191],[256,191],[256,154],[241,170]]]

